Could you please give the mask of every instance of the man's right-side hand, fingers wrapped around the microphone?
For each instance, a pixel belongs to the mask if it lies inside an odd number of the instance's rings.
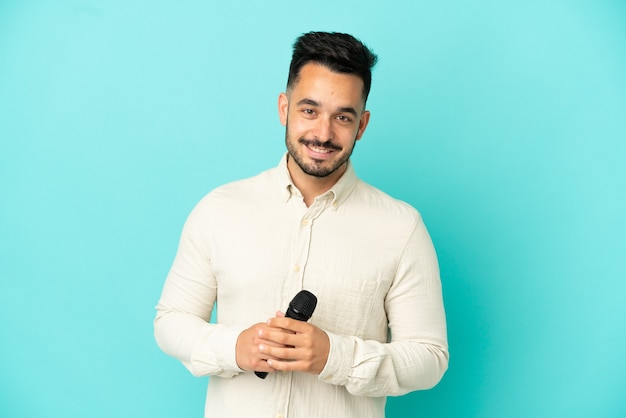
[[[264,341],[260,351],[272,370],[320,374],[330,351],[328,335],[308,322],[286,318],[280,312],[260,330]]]

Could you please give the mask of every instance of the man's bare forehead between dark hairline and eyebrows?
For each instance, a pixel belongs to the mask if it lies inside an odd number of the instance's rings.
[[[337,73],[316,63],[308,63],[300,69],[290,95],[296,102],[308,98],[322,104],[352,106],[356,109],[364,106],[361,77]]]

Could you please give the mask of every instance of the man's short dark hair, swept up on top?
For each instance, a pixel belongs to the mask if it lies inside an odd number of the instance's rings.
[[[287,89],[298,81],[302,67],[314,62],[337,73],[359,76],[363,80],[363,102],[367,102],[372,85],[372,68],[377,61],[376,54],[347,33],[305,33],[293,44]]]

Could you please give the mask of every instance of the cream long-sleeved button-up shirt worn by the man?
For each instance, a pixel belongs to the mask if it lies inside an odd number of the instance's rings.
[[[319,376],[235,361],[239,334],[302,289],[330,339]],[[209,323],[217,307],[215,324]],[[159,346],[210,375],[205,417],[384,417],[385,397],[434,386],[448,366],[435,251],[419,213],[349,164],[307,207],[278,167],[209,193],[192,211],[157,306]]]

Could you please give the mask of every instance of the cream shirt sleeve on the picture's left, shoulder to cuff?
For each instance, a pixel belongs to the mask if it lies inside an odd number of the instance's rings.
[[[210,324],[217,295],[201,210],[190,214],[178,252],[157,304],[154,334],[166,354],[180,360],[195,376],[233,377],[235,346],[244,327]]]

